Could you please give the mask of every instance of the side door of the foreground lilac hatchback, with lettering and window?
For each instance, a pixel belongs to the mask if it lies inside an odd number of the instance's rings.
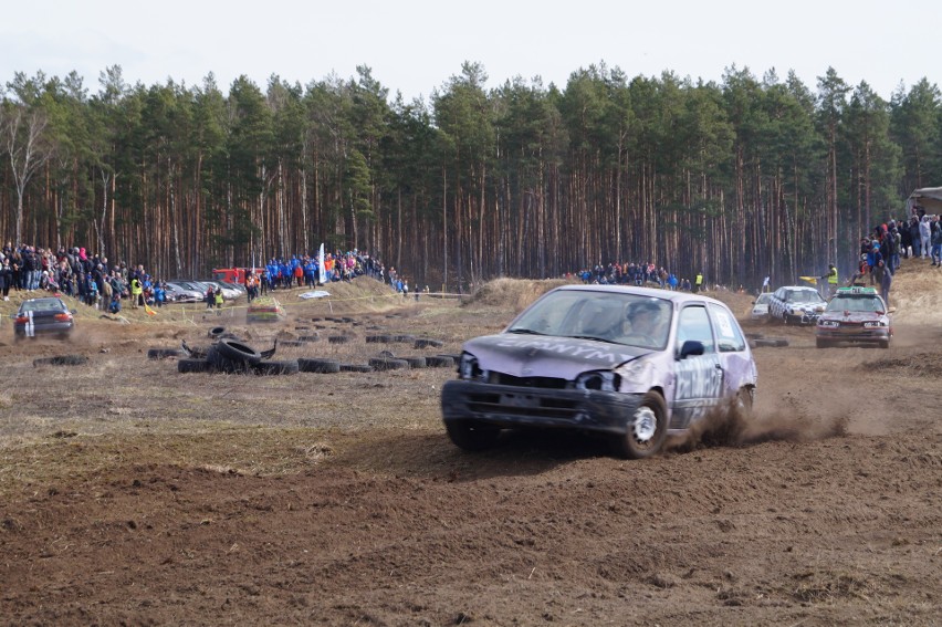
[[[676,337],[677,378],[670,428],[684,429],[702,418],[718,403],[723,390],[723,369],[705,304],[689,304],[680,310]],[[703,354],[681,358],[683,343],[691,339],[703,344]]]

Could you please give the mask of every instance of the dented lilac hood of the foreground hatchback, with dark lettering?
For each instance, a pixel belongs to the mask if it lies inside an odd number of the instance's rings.
[[[575,379],[587,370],[611,369],[650,348],[551,335],[501,333],[464,343],[464,351],[485,370],[515,377]]]

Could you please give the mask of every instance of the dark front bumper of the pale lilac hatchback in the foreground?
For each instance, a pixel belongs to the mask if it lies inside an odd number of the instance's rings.
[[[450,380],[441,389],[446,422],[475,420],[502,428],[562,428],[624,435],[641,396]]]

